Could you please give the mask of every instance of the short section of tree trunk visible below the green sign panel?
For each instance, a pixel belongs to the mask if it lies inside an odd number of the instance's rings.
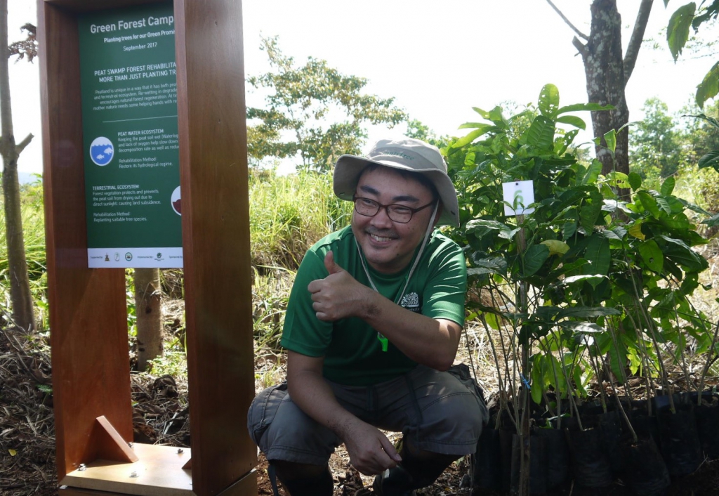
[[[135,269],[135,312],[137,312],[137,370],[162,356],[162,312],[160,269]]]

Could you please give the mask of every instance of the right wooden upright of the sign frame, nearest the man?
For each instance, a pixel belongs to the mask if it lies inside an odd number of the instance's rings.
[[[257,461],[240,1],[176,0],[175,53],[193,488],[216,495]]]

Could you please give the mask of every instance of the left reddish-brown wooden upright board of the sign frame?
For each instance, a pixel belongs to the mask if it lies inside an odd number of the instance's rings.
[[[87,268],[78,30],[37,2],[47,286],[58,475],[89,461],[95,419],[132,441],[122,269]]]

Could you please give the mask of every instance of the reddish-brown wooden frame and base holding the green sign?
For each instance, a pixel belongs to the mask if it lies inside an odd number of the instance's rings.
[[[83,173],[78,19],[162,3],[175,25],[191,420],[183,451],[128,446],[124,269],[88,269]],[[241,2],[37,0],[37,17],[60,495],[255,495]]]

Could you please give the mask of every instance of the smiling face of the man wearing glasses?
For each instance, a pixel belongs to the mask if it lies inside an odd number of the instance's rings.
[[[404,178],[389,167],[362,173],[356,194],[380,204],[400,204],[411,208],[422,207],[433,199],[426,186],[415,179]],[[391,220],[383,207],[374,217],[352,212],[352,232],[372,269],[383,274],[394,274],[404,269],[422,243],[433,210],[434,207],[427,207],[415,212],[406,224]]]

